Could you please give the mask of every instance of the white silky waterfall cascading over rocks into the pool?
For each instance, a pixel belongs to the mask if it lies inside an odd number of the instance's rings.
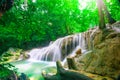
[[[57,61],[64,60],[69,54],[74,54],[78,48],[82,52],[86,51],[83,33],[59,38],[46,47],[31,50],[28,54],[30,59],[34,60]]]

